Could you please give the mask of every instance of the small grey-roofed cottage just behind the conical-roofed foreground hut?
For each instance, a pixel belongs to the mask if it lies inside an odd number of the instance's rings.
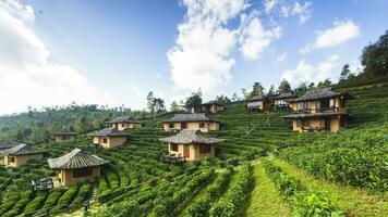
[[[126,142],[128,132],[119,131],[114,128],[104,128],[101,130],[90,132],[87,135],[93,138],[93,143],[98,144],[105,149],[120,146]]]

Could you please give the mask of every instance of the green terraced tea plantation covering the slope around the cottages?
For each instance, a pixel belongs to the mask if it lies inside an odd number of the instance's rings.
[[[170,133],[144,119],[130,141],[102,150],[86,136],[39,143],[57,157],[74,148],[110,164],[97,182],[33,192],[31,180],[53,176],[47,161],[0,168],[0,216],[387,216],[388,86],[353,88],[349,129],[296,133],[282,112],[248,113],[244,103],[210,115],[227,139],[216,157],[184,164],[161,161]],[[84,213],[85,202],[89,209]]]

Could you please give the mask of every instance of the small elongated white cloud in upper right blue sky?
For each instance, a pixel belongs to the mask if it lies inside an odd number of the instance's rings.
[[[314,43],[307,43],[300,52],[335,47],[359,37],[360,34],[359,25],[352,21],[336,21],[332,28],[319,31]]]

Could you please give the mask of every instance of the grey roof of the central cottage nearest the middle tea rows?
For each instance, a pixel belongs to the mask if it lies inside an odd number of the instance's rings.
[[[225,139],[216,139],[211,138],[201,130],[189,130],[183,129],[178,135],[167,138],[161,138],[159,141],[162,142],[171,142],[179,144],[187,144],[187,143],[203,143],[203,144],[213,144],[225,141]]]

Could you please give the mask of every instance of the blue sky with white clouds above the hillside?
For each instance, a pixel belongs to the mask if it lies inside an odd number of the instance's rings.
[[[360,71],[387,11],[386,0],[0,0],[0,115],[336,81],[345,63]]]

